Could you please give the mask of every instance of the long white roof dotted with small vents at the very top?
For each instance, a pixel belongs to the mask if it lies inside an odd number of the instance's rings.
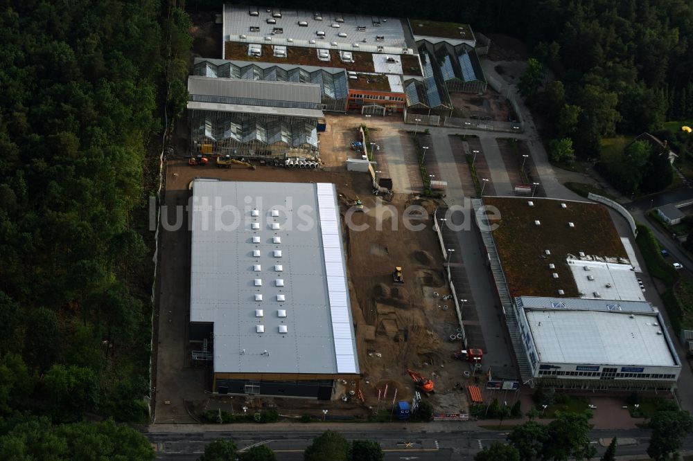
[[[258,11],[258,16],[249,15],[249,10]],[[281,18],[274,18],[276,24],[267,24],[272,13],[280,11]],[[265,37],[271,37],[271,42],[268,43],[272,44],[356,49],[369,53],[378,52],[378,47],[382,47],[384,53],[401,53],[403,48],[407,48],[404,30],[408,25],[403,24],[401,19],[326,11],[322,12],[321,17],[322,21],[319,21],[315,19],[314,12],[281,8],[267,12],[267,8],[225,4],[222,37],[224,42],[254,43],[263,43],[266,41]],[[299,26],[299,22],[306,24],[306,27]],[[339,27],[333,27],[333,24],[339,24]],[[252,32],[251,26],[258,27],[259,30]],[[365,30],[359,30],[359,26],[365,26]],[[281,34],[272,33],[277,27],[282,29]],[[324,32],[324,36],[318,36],[318,31]],[[347,37],[340,37],[340,34],[346,34]],[[241,38],[241,35],[245,35],[245,38]],[[376,37],[382,39],[378,40]],[[289,39],[292,41],[289,42]],[[311,44],[311,40],[315,44]],[[331,46],[331,42],[336,42],[337,46]],[[353,48],[355,43],[359,48]]]

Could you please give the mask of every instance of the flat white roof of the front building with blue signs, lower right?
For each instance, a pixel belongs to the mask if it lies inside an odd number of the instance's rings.
[[[655,314],[526,309],[525,315],[541,363],[678,365]]]

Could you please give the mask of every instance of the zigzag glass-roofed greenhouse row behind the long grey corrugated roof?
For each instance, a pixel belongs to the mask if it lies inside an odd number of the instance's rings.
[[[336,67],[299,66],[267,62],[244,62],[195,58],[195,75],[214,78],[294,82],[320,86],[321,109],[347,111],[347,71]]]

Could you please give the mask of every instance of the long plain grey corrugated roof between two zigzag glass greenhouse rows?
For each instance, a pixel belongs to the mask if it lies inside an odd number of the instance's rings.
[[[222,96],[286,102],[320,103],[317,84],[240,80],[231,78],[188,76],[188,93],[201,96]]]

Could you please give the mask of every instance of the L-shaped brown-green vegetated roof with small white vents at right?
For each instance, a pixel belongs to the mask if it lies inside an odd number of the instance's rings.
[[[529,206],[532,201],[534,206]],[[565,203],[566,208],[561,204]],[[484,197],[484,205],[500,211],[493,239],[513,296],[564,296],[577,298],[579,291],[565,261],[568,254],[627,257],[606,207],[577,201]],[[536,225],[534,222],[541,224]],[[570,227],[572,222],[574,227]],[[545,254],[545,250],[551,252]],[[549,269],[554,264],[555,269]],[[557,273],[559,278],[553,278]]]

